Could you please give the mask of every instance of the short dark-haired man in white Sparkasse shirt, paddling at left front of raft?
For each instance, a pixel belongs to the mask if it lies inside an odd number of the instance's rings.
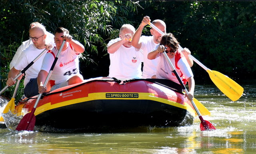
[[[66,40],[66,42],[54,66],[50,81],[44,87],[43,84],[63,40]],[[78,60],[78,55],[84,52],[84,46],[80,42],[73,40],[72,36],[69,35],[69,31],[62,27],[56,28],[54,31],[54,41],[56,46],[47,52],[38,74],[39,93],[49,92],[57,88],[80,83],[84,80],[79,72]]]

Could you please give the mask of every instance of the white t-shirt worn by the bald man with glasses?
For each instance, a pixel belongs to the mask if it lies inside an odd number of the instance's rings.
[[[14,68],[16,70],[23,70],[43,51],[44,49],[38,49],[34,46],[34,44],[30,44],[25,50],[22,51],[20,57],[18,58],[16,64],[14,65]],[[38,58],[38,60],[36,60],[36,62],[34,62],[34,64],[32,64],[32,66],[30,66],[30,68],[26,70],[24,87],[27,85],[31,78],[37,78],[45,55],[46,53],[43,54],[40,58]]]

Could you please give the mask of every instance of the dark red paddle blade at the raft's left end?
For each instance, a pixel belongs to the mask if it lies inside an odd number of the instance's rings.
[[[26,114],[22,120],[20,121],[20,123],[18,124],[16,130],[21,131],[21,130],[28,130],[28,131],[32,131],[34,130],[34,126],[36,123],[36,116],[34,115],[34,112],[30,112],[28,114]]]

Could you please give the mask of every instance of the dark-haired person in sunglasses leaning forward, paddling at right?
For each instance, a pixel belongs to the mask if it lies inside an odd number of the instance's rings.
[[[166,61],[164,55],[162,52],[166,52],[168,58],[172,62],[173,66],[175,67],[178,75],[186,84],[188,82],[188,99],[192,100],[194,97],[194,75],[192,73],[192,70],[185,58],[185,56],[182,54],[181,51],[178,50],[179,48],[179,42],[174,37],[172,33],[165,34],[160,44],[156,46],[156,48],[148,53],[148,59],[152,60],[157,57],[160,57],[160,60],[158,61],[158,65],[156,68],[156,78],[160,79],[168,79],[172,80],[178,84],[179,81],[176,78],[175,74],[172,72],[171,66],[169,66],[168,62]],[[187,48],[184,48],[184,50],[188,50]]]

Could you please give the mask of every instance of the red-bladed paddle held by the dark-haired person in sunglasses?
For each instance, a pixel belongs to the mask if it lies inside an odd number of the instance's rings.
[[[164,57],[166,59],[166,61],[170,64],[170,66],[172,67],[172,72],[174,72],[176,78],[178,79],[178,81],[180,82],[180,85],[182,86],[182,89],[185,91],[186,95],[188,96],[188,90],[186,89],[185,85],[183,84],[182,80],[180,79],[180,76],[178,75],[178,73],[176,72],[174,66],[172,65],[172,62],[170,61],[169,57],[167,56],[166,52],[163,52]],[[216,128],[209,122],[203,119],[202,115],[200,114],[198,108],[196,107],[194,101],[190,101],[194,107],[194,109],[196,110],[196,113],[198,114],[199,119],[201,120],[200,123],[200,130],[204,131],[204,130],[216,130]]]

